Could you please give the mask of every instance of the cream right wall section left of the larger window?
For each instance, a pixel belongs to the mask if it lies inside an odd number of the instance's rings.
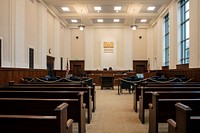
[[[148,58],[150,58],[150,69],[160,70],[163,65],[163,17],[169,13],[169,68],[176,68],[178,62],[178,3],[176,0],[172,1],[168,7],[160,14],[153,26],[148,29]],[[151,48],[153,47],[153,48]]]

